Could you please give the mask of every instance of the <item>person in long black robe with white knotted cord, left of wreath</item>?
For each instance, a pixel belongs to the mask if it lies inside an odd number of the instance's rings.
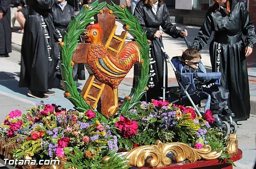
[[[54,83],[58,57],[54,55],[54,38],[61,42],[49,12],[55,0],[26,0],[28,16],[21,47],[20,87],[28,87],[28,95],[48,99]]]

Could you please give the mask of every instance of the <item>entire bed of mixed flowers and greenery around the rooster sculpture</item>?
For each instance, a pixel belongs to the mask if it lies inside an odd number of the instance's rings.
[[[93,110],[66,110],[55,104],[36,103],[26,114],[14,110],[0,126],[1,137],[7,144],[17,144],[13,157],[22,159],[54,159],[68,161],[66,168],[128,168],[128,159],[117,153],[138,145],[162,142],[183,142],[200,149],[204,144],[212,150],[225,150],[227,140],[222,131],[210,127],[212,113],[196,115],[192,107],[168,101],[142,101],[128,112],[110,119],[101,118]],[[108,162],[101,162],[109,156]],[[221,158],[230,157],[222,153]]]

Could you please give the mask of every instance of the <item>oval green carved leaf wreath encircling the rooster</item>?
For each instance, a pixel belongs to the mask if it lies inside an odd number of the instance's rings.
[[[144,61],[141,64],[142,70],[138,77],[138,84],[132,88],[130,92],[131,100],[128,101],[124,99],[122,106],[118,109],[119,112],[125,112],[132,109],[136,104],[139,103],[140,98],[146,92],[146,86],[148,84],[148,75],[149,70],[149,44],[148,39],[146,38],[146,32],[142,31],[142,28],[138,22],[138,19],[132,16],[130,12],[126,9],[126,7],[118,6],[112,2],[112,5],[106,4],[106,2],[98,3],[96,0],[94,3],[90,5],[89,8],[85,6],[76,15],[72,18],[69,28],[67,32],[64,34],[63,42],[61,45],[61,53],[62,53],[62,62],[60,63],[60,70],[62,72],[62,79],[64,85],[66,87],[66,95],[65,97],[71,101],[74,105],[74,109],[78,111],[87,111],[88,109],[92,109],[90,105],[86,103],[82,95],[78,93],[76,89],[76,82],[74,82],[72,77],[73,66],[72,63],[72,55],[76,49],[78,44],[78,36],[85,31],[85,26],[90,24],[90,22],[94,21],[91,19],[92,16],[98,14],[104,6],[108,7],[108,9],[113,10],[113,14],[115,14],[119,19],[118,21],[123,24],[129,26],[130,33],[134,36],[135,41],[140,46],[141,59]],[[67,94],[68,93],[68,94]],[[99,117],[100,113],[96,112],[96,115]]]

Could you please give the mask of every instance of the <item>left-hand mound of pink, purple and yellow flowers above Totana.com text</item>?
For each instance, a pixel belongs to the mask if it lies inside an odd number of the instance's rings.
[[[8,138],[9,145],[18,145],[12,150],[16,159],[29,155],[39,161],[61,156],[68,160],[66,167],[77,169],[128,168],[127,159],[116,155],[117,137],[110,132],[110,126],[96,120],[90,109],[78,112],[41,101],[26,114],[11,111],[0,127],[0,134]],[[106,155],[114,160],[100,163]]]

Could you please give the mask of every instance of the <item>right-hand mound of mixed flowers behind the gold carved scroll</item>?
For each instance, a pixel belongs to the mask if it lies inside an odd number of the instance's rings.
[[[118,137],[119,149],[130,150],[134,145],[151,145],[158,139],[162,142],[187,143],[196,149],[202,148],[204,144],[210,145],[213,151],[226,149],[227,139],[223,132],[211,127],[214,119],[210,110],[200,117],[190,106],[152,100],[151,103],[142,101],[129,112],[123,113],[122,117],[136,121],[138,127],[133,131],[138,129],[133,136],[130,135],[130,139],[126,139],[123,131],[112,131]],[[230,155],[222,153],[220,158],[228,157]]]

